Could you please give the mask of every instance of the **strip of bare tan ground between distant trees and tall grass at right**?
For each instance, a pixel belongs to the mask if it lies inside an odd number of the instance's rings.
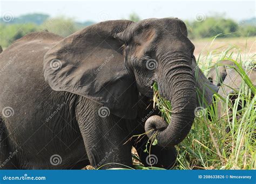
[[[236,46],[241,50],[242,53],[246,54],[256,54],[256,37],[250,38],[222,38],[215,39],[212,43],[211,38],[207,39],[195,39],[191,40],[195,46],[194,55],[198,58],[199,54],[202,52],[206,55],[207,52],[218,49],[218,51],[224,51],[230,46]]]

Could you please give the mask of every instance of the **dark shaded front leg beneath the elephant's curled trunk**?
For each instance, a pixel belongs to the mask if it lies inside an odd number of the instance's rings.
[[[175,147],[160,147],[160,146],[150,146],[147,144],[147,150],[149,153],[144,152],[146,148],[146,143],[148,138],[145,137],[138,143],[134,144],[139,158],[146,167],[162,167],[166,169],[171,169],[176,164],[177,150]]]

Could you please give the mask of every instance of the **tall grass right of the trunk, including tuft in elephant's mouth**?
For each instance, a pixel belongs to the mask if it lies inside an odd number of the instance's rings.
[[[234,89],[238,97],[231,103],[228,96],[221,98],[214,94],[216,103],[203,110],[202,116],[196,117],[190,133],[177,146],[178,159],[174,169],[256,168],[256,96],[253,81],[246,75],[250,67],[255,65],[255,55],[242,55],[237,46],[230,46],[223,51],[219,48],[208,52],[207,55],[200,55],[198,64],[207,74],[208,69],[214,65],[213,61],[223,59],[232,60],[237,72],[242,76],[240,89]],[[153,88],[154,102],[162,117],[170,122],[170,102],[159,96],[156,84]],[[217,115],[217,103],[223,103],[225,106],[221,117]],[[240,110],[239,105],[242,107]]]

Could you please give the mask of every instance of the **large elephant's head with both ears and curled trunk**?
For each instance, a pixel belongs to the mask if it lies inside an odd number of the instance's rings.
[[[176,145],[191,129],[196,87],[206,104],[212,99],[213,86],[198,69],[193,51],[186,26],[177,18],[106,21],[53,46],[44,57],[44,77],[52,89],[85,96],[128,119],[137,117],[138,94],[151,96],[157,82],[160,95],[171,101],[172,119],[167,125],[153,116],[145,130],[161,146]]]

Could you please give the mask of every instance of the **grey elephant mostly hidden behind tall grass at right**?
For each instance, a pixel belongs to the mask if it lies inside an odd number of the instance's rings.
[[[237,99],[237,94],[242,84],[242,77],[234,69],[236,66],[232,61],[222,60],[218,61],[217,65],[212,67],[208,73],[208,80],[213,84],[219,86],[218,94],[226,99],[228,96],[232,103]],[[252,81],[254,87],[256,86],[256,68],[243,68],[247,76]],[[218,102],[218,116],[221,117],[226,113],[226,104]],[[238,105],[238,110],[241,109]],[[229,112],[232,113],[231,109]]]

